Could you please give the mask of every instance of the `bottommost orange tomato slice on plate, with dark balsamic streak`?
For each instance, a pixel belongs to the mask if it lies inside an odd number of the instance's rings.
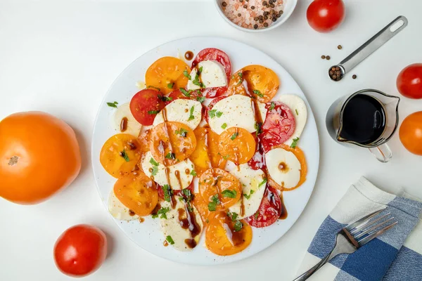
[[[241,229],[235,223],[242,224]],[[236,231],[238,230],[238,231]],[[210,223],[205,231],[205,245],[212,253],[219,256],[230,256],[246,249],[252,242],[252,228],[244,220],[234,222],[220,212]]]

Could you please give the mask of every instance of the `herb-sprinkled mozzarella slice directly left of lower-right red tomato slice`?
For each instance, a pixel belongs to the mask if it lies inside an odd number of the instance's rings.
[[[229,211],[238,214],[238,218],[246,218],[256,213],[260,207],[265,191],[265,174],[261,169],[254,170],[248,164],[241,164],[238,169],[230,172],[241,181],[243,195],[241,200],[229,208]],[[253,191],[252,191],[253,190]],[[251,194],[252,192],[252,194]],[[247,195],[246,197],[244,195]],[[243,204],[244,213],[241,215]]]

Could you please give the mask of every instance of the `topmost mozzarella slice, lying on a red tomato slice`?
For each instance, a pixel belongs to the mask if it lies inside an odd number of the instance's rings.
[[[202,72],[198,73],[202,67]],[[203,60],[198,63],[198,66],[191,71],[191,79],[188,81],[188,90],[200,89],[200,86],[193,84],[196,74],[199,74],[199,81],[201,81],[205,88],[223,87],[227,86],[226,71],[221,63],[216,60]]]

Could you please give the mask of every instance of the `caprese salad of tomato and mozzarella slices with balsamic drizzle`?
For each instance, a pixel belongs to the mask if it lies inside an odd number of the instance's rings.
[[[253,228],[286,217],[282,192],[305,182],[298,147],[304,101],[278,94],[276,73],[262,65],[231,71],[229,55],[206,48],[191,66],[160,58],[146,88],[115,107],[118,131],[100,161],[117,178],[109,211],[117,219],[160,221],[163,244],[205,246],[222,256],[252,241]]]

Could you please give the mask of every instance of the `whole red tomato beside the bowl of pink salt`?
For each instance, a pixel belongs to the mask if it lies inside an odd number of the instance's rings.
[[[314,0],[306,11],[309,25],[317,32],[331,32],[345,18],[343,0]]]

